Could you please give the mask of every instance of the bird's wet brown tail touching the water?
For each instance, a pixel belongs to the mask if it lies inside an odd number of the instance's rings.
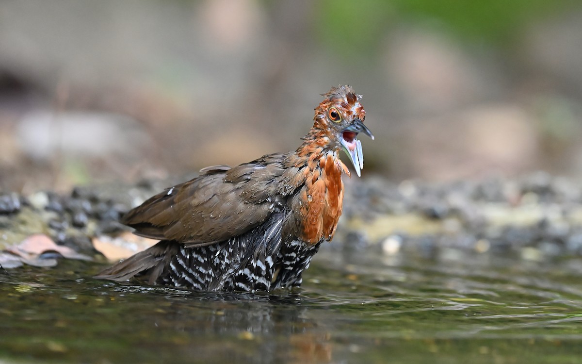
[[[177,251],[178,243],[162,240],[143,252],[101,271],[93,278],[124,282],[133,277],[140,277],[147,280],[148,284],[154,285]]]

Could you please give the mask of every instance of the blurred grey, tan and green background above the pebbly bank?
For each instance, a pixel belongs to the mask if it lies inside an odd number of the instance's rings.
[[[186,174],[295,149],[363,97],[364,176],[582,175],[582,3],[5,1],[0,188]]]

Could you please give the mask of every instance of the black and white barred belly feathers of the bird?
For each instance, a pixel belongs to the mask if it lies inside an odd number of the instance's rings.
[[[155,264],[134,274],[136,278],[143,276],[150,284],[199,291],[256,292],[299,287],[301,274],[321,242],[314,245],[297,240],[283,242],[284,219],[285,213],[274,214],[265,224],[213,245],[187,247],[160,241],[148,249],[149,253],[145,250],[123,263],[134,264],[140,255],[149,254],[151,258],[152,253],[159,252],[153,260]]]

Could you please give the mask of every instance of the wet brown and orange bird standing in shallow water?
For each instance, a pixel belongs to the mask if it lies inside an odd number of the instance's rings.
[[[361,96],[350,86],[322,94],[303,143],[229,167],[200,170],[127,212],[120,222],[158,239],[95,278],[195,291],[269,292],[300,287],[303,271],[342,214],[342,175],[364,166]]]

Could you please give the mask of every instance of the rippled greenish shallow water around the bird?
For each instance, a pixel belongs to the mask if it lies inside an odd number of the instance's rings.
[[[216,294],[0,273],[0,361],[574,363],[582,260],[321,252],[300,291]]]

